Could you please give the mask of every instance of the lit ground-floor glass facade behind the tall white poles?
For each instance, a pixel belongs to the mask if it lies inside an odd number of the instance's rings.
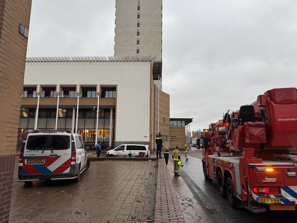
[[[55,129],[56,109],[39,109],[37,129]],[[36,109],[21,109],[19,132],[33,130]],[[72,128],[73,109],[58,109],[57,129]],[[114,142],[115,109],[113,109],[112,142]],[[84,141],[93,143],[96,139],[97,109],[78,109],[78,134]],[[76,111],[75,111],[76,121]],[[110,109],[99,109],[98,141],[109,142],[110,138]]]

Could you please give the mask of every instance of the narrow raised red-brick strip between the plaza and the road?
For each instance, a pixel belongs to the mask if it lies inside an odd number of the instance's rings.
[[[186,222],[164,159],[158,162],[154,223]]]

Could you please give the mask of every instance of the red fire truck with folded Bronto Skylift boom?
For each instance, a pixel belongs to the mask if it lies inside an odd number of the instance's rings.
[[[200,148],[205,180],[213,180],[233,208],[295,210],[296,88],[275,88],[239,111],[228,110],[209,125]]]

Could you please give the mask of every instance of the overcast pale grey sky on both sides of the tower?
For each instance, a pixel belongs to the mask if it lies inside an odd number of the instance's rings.
[[[297,87],[297,1],[163,0],[170,117],[207,128],[269,89]],[[27,56],[113,56],[115,0],[33,0]]]

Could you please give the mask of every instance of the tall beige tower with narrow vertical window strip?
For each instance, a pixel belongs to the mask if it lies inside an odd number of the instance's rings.
[[[116,0],[114,56],[162,61],[162,0]]]

